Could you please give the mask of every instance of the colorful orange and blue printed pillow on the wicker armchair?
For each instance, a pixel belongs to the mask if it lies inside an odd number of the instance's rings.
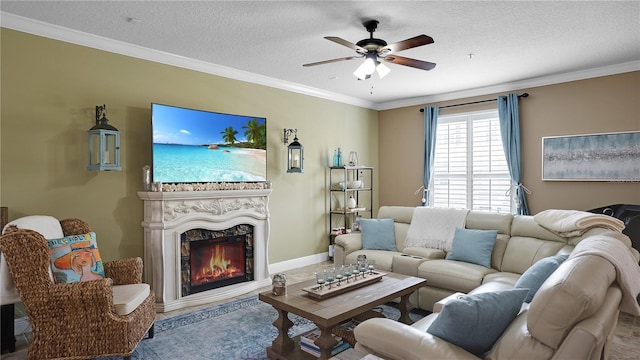
[[[56,284],[104,279],[104,267],[94,232],[47,242]]]

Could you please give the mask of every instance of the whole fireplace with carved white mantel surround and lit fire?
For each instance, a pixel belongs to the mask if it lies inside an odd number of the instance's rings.
[[[138,193],[144,201],[144,282],[155,292],[156,311],[224,301],[271,284],[270,193]]]

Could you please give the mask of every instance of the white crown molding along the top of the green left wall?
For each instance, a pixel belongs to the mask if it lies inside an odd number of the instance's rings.
[[[25,18],[22,16],[0,12],[0,26],[3,28],[42,36],[53,40],[68,42],[75,45],[108,51],[115,54],[130,56],[142,60],[153,61],[165,65],[195,70],[206,74],[221,76],[229,79],[264,85],[294,93],[309,95],[326,100],[337,101],[349,105],[375,109],[375,103],[342,94],[337,94],[318,88],[283,81],[268,76],[258,75],[248,71],[237,70],[226,66],[216,65],[201,60],[195,60],[163,51],[125,43],[82,31],[72,30],[58,25]]]

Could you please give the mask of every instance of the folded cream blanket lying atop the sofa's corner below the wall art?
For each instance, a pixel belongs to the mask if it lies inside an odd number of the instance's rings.
[[[580,236],[595,227],[618,232],[624,230],[624,222],[620,219],[579,210],[544,210],[536,214],[533,219],[540,226],[562,237]]]

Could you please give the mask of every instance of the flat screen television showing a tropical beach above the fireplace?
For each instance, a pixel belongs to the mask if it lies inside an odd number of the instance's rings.
[[[162,183],[267,179],[267,119],[151,104],[152,178]]]

